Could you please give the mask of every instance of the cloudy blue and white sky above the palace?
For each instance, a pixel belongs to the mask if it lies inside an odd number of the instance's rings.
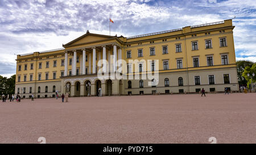
[[[125,37],[233,19],[236,60],[256,62],[255,0],[0,0],[0,75],[16,55],[62,48],[91,33]]]

